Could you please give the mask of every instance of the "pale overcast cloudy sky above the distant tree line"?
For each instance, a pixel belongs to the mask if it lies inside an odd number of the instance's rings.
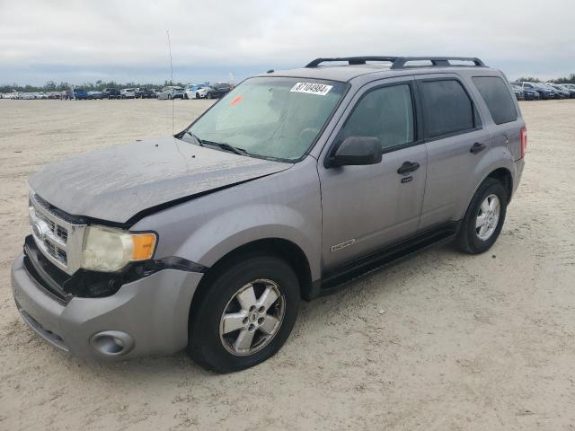
[[[0,84],[235,81],[314,57],[474,56],[575,73],[572,0],[0,0]]]

